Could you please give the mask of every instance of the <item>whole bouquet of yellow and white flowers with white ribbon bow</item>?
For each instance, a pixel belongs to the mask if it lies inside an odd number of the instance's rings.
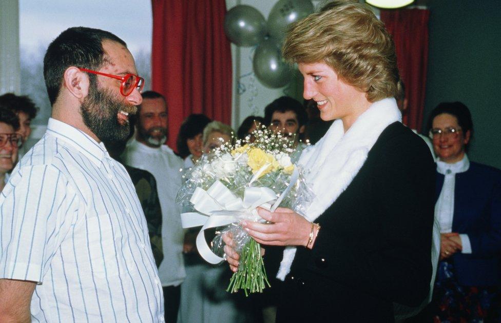
[[[183,177],[177,203],[184,213],[184,228],[202,226],[196,242],[200,255],[211,264],[224,260],[222,235],[230,233],[240,254],[239,268],[227,291],[243,289],[262,292],[269,282],[264,270],[260,245],[239,225],[240,221],[261,221],[256,208],[274,211],[286,207],[304,214],[313,200],[301,169],[291,161],[292,143],[280,132],[261,127],[253,133],[255,141],[237,140],[222,144],[202,156]],[[215,228],[209,247],[204,231]]]

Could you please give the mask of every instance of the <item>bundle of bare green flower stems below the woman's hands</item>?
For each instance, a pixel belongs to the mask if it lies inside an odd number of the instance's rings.
[[[256,240],[251,239],[242,248],[240,253],[238,271],[233,274],[229,280],[227,292],[236,293],[243,289],[245,296],[250,293],[263,292],[263,289],[268,285],[268,277],[264,270],[264,261],[261,256],[261,245]],[[266,283],[266,285],[265,285]]]

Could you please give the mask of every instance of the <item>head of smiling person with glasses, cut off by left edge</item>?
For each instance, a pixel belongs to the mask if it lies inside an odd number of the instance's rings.
[[[21,143],[21,136],[16,133],[18,129],[19,119],[15,113],[0,102],[0,192],[17,161],[17,148]]]

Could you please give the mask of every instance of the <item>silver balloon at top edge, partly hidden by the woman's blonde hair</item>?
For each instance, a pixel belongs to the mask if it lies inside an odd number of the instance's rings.
[[[283,41],[287,26],[313,13],[310,0],[279,0],[268,15],[269,35]]]

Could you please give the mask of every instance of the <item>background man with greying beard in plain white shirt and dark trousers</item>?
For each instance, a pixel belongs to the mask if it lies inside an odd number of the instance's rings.
[[[184,231],[180,209],[175,202],[182,184],[183,160],[167,145],[167,103],[162,94],[146,91],[138,107],[136,138],[127,146],[125,164],[146,170],[157,180],[162,209],[162,248],[164,259],[158,269],[165,298],[165,320],[176,322],[181,295],[180,285],[186,273],[183,260]]]

